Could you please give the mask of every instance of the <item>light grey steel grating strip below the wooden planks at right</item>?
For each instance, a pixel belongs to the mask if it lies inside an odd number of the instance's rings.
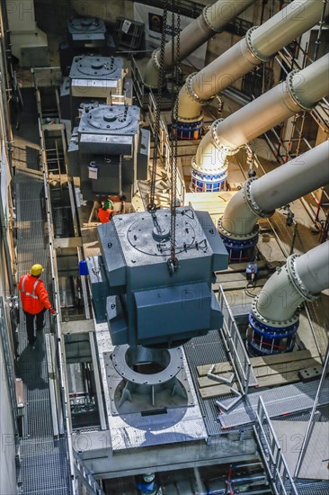
[[[238,402],[236,408],[229,412],[222,412],[218,419],[222,428],[236,428],[240,425],[255,421],[254,411],[257,410],[259,397],[262,396],[270,418],[292,414],[313,407],[319,381],[284,385],[262,392],[253,392]],[[227,405],[231,400],[222,401]],[[325,380],[319,397],[319,406],[329,403],[329,379]]]

